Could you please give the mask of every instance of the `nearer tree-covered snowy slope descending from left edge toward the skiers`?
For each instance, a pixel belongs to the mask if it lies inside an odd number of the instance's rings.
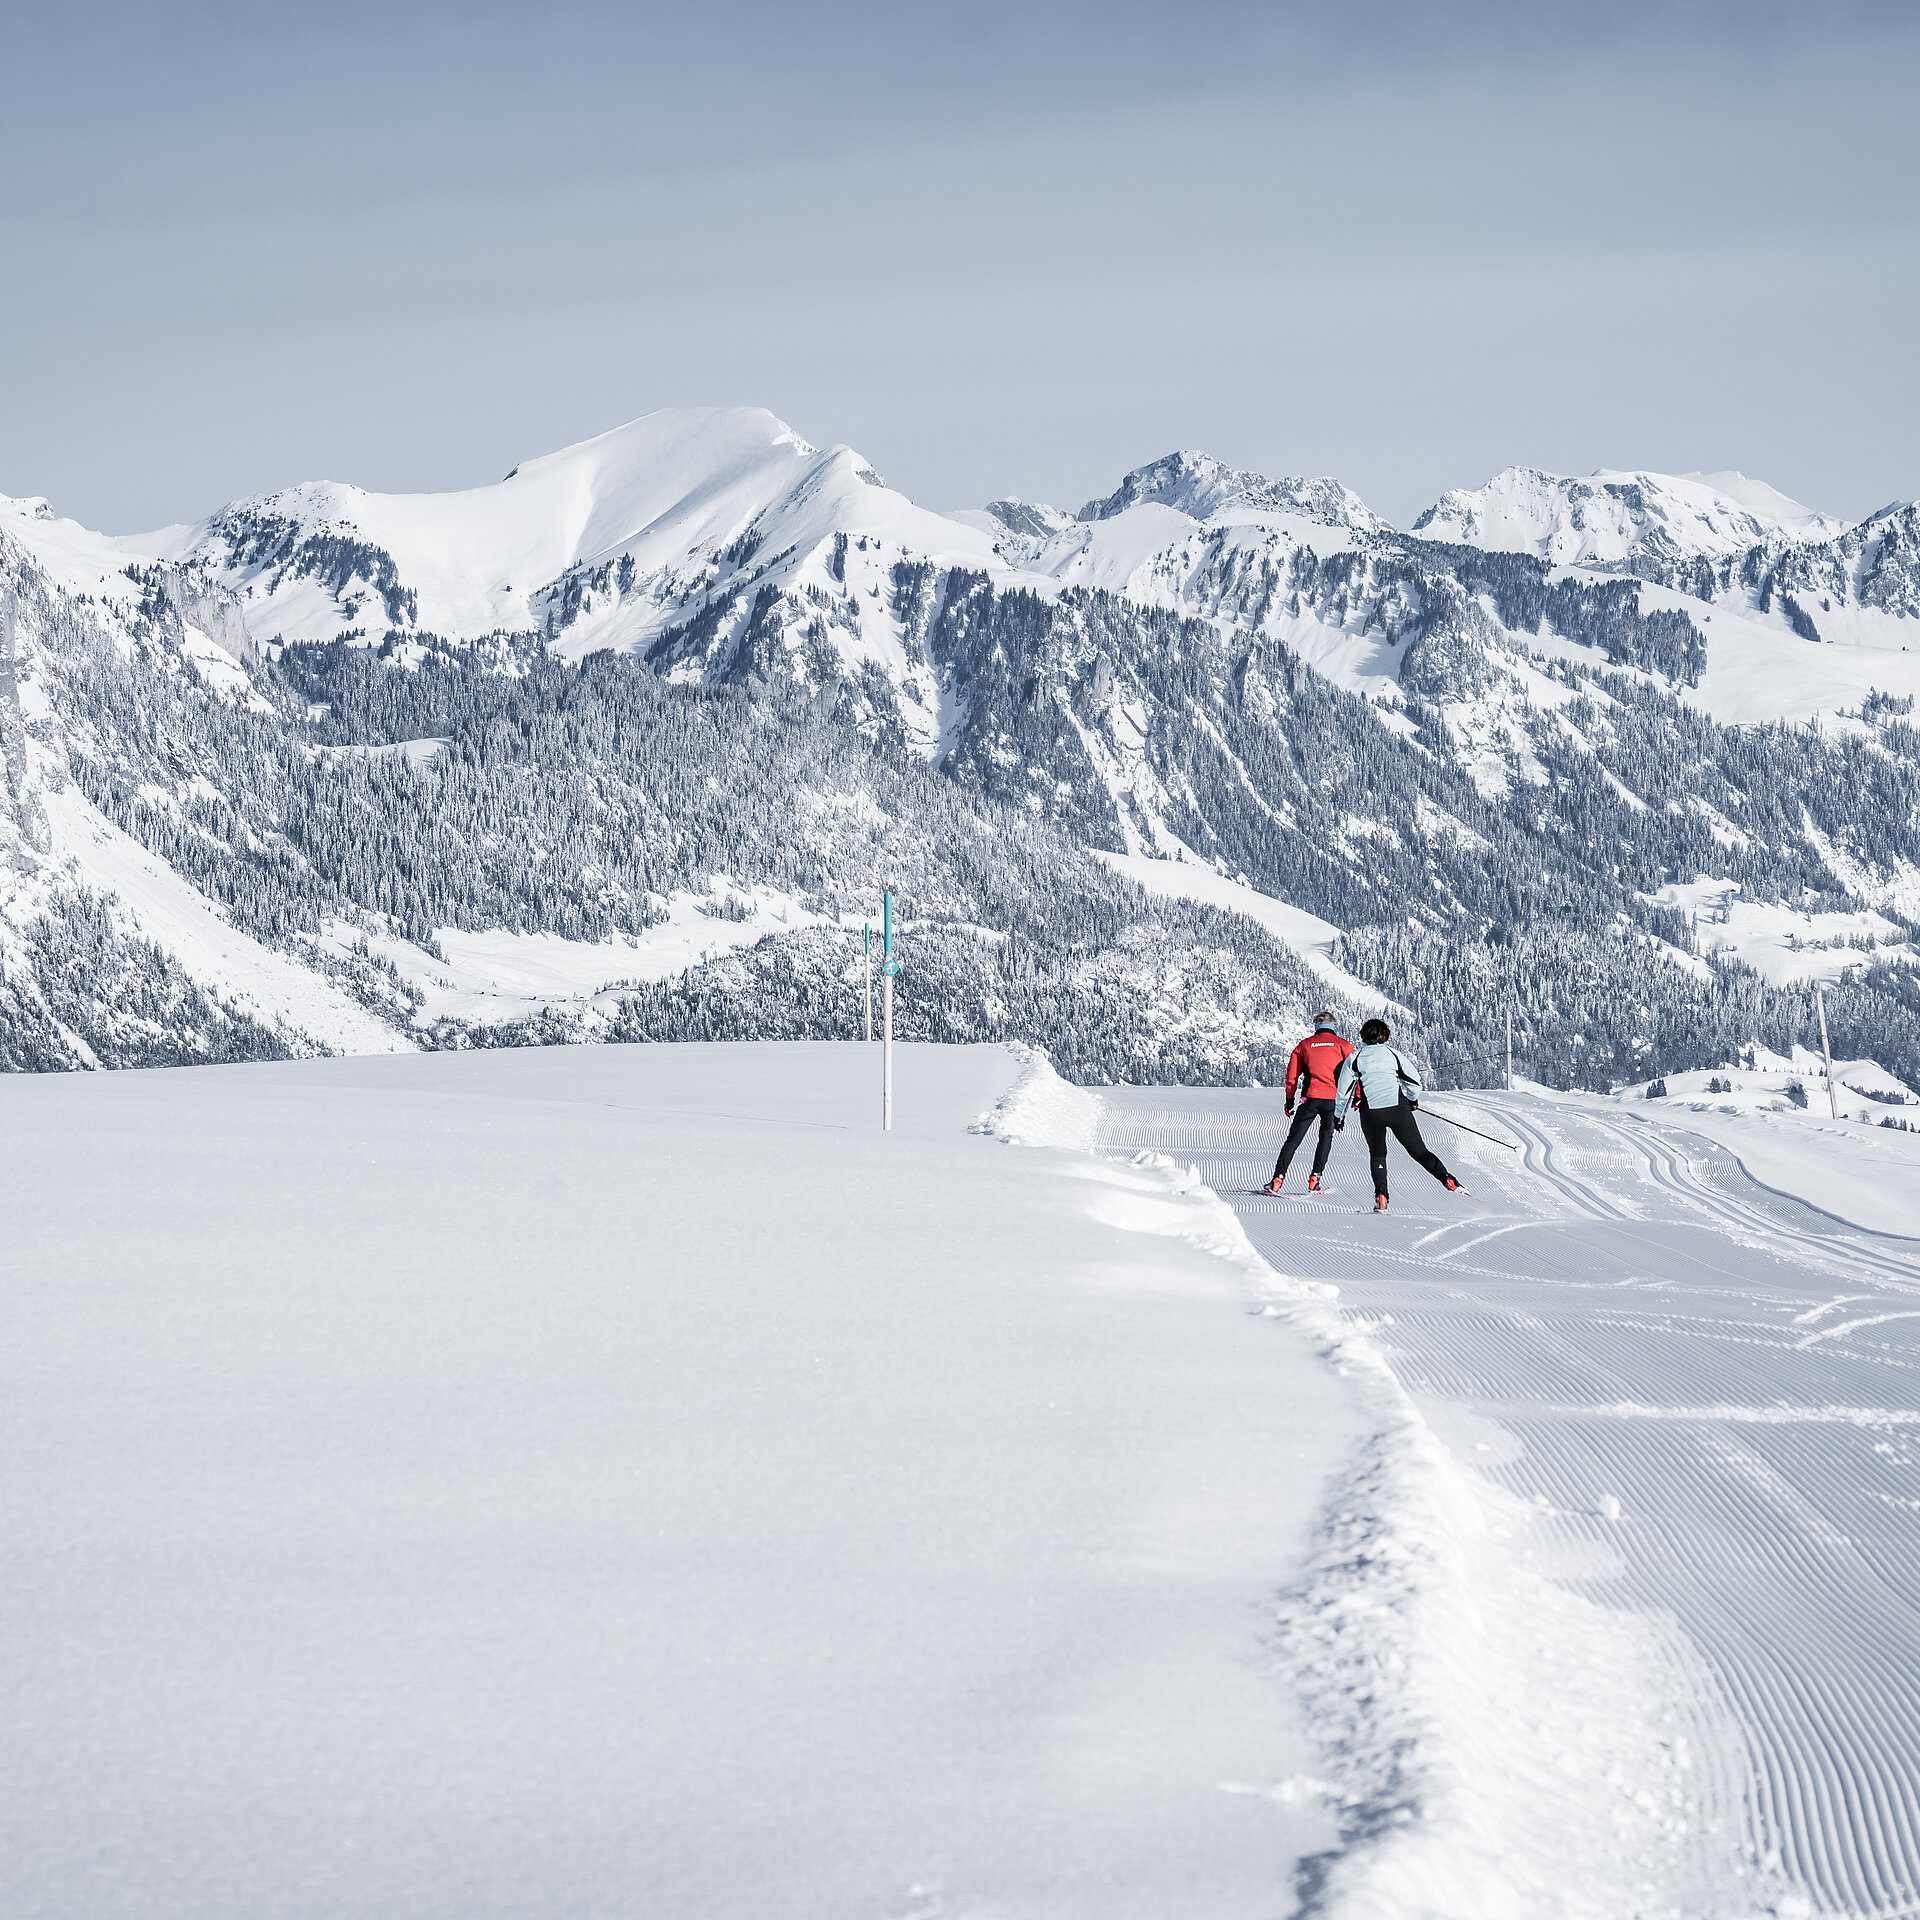
[[[841,660],[732,689],[540,632],[257,645],[271,593],[154,545],[0,503],[0,1069],[851,1033],[883,885],[908,1035],[1244,1073],[1327,991],[1263,925],[1150,904],[876,749]]]

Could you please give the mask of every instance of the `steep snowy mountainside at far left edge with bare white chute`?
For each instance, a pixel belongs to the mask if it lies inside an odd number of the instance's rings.
[[[127,563],[44,501],[0,499],[0,1068],[409,1044],[378,993],[236,925],[182,872],[177,835],[215,789],[150,720],[202,705],[284,724],[232,597]],[[134,837],[96,804],[86,774],[108,762],[175,837]]]

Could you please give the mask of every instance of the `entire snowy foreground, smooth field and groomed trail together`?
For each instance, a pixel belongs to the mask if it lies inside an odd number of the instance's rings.
[[[0,1081],[6,1910],[1910,1910],[1912,1137],[1442,1094],[1380,1219],[1279,1104]]]

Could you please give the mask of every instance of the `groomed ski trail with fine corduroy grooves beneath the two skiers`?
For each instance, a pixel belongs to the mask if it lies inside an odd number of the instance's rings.
[[[1597,1615],[1649,1636],[1628,1659],[1642,1684],[1665,1674],[1668,1740],[1680,1738],[1672,1713],[1692,1728],[1692,1832],[1668,1836],[1665,1853],[1638,1836],[1624,1880],[1592,1910],[1920,1910],[1910,1242],[1761,1187],[1705,1139],[1572,1102],[1475,1096],[1488,1131],[1509,1129],[1524,1148],[1434,1142],[1473,1188],[1475,1212],[1461,1217],[1463,1202],[1396,1152],[1394,1212],[1357,1219],[1371,1183],[1344,1135],[1323,1194],[1227,1192],[1271,1169],[1283,1133],[1271,1092],[1114,1089],[1106,1100],[1110,1150],[1192,1160],[1271,1265],[1338,1286],[1331,1311],[1384,1357],[1434,1432],[1467,1436],[1455,1453],[1478,1469],[1488,1530],[1507,1548],[1475,1567],[1490,1582],[1492,1597],[1473,1596],[1488,1619],[1517,1557],[1588,1603],[1569,1617],[1582,1632]],[[1528,1221],[1542,1231],[1515,1231]],[[1469,1252],[1473,1263],[1459,1258]],[[1663,1620],[1678,1628],[1665,1640]],[[1498,1645],[1528,1676],[1532,1711],[1505,1736],[1517,1751],[1557,1740],[1578,1753],[1592,1728],[1555,1686],[1580,1644]],[[1617,1693],[1609,1711],[1630,1716],[1624,1680]],[[1640,1695],[1642,1709],[1651,1697]],[[1492,1695],[1486,1711],[1498,1713]],[[1632,1747],[1624,1722],[1615,1738]],[[1471,1759],[1486,1764],[1484,1753]],[[1336,1745],[1329,1776],[1340,1764]],[[1513,1832],[1528,1791],[1551,1799],[1526,1782],[1501,1791],[1517,1795]],[[1544,1814],[1569,1876],[1584,1791],[1569,1782],[1565,1805]],[[1647,1791],[1661,1803],[1670,1776],[1655,1772]],[[1442,1801],[1430,1824],[1448,1816]],[[1738,1845],[1716,1830],[1722,1820]],[[1309,1910],[1394,1910],[1392,1882],[1379,1878],[1388,1847],[1382,1830],[1354,1826],[1344,1895]],[[1500,1908],[1436,1895],[1405,1910]],[[1549,1910],[1588,1908],[1567,1895]]]

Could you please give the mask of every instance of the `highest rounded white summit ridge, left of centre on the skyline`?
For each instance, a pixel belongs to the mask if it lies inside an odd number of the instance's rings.
[[[758,407],[651,413],[493,486],[307,482],[111,541],[200,563],[261,641],[538,632],[572,659],[643,645],[749,589],[845,595],[831,578],[845,543],[876,561],[1004,566],[991,540],[895,493],[851,447],[812,447]]]

